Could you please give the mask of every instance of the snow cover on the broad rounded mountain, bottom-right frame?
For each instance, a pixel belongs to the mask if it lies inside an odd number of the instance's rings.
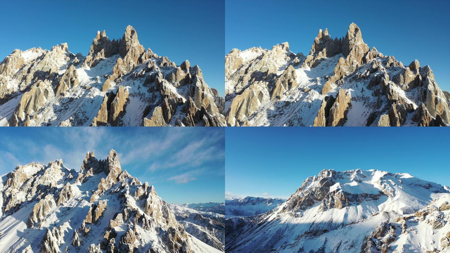
[[[409,174],[391,174],[377,170],[363,173],[366,177],[361,181],[351,180],[351,173],[348,173],[349,176],[337,178],[330,191],[341,190],[352,194],[383,191],[384,194],[378,200],[367,199],[342,209],[331,208],[325,211],[320,209],[321,202],[316,201],[306,210],[284,212],[284,207],[290,201],[288,199],[273,211],[251,217],[252,222],[244,222],[247,225],[241,225],[237,229],[243,229],[239,231],[240,236],[233,238],[231,242],[227,241],[226,252],[291,253],[323,250],[359,253],[365,237],[370,235],[379,223],[393,223],[398,217],[410,217],[411,214],[414,216],[415,212],[430,203],[435,206],[444,201],[450,203],[450,192],[441,185],[420,180]],[[316,184],[317,181],[309,183],[305,189],[318,186]],[[300,197],[296,194],[291,198]],[[435,215],[439,215],[438,213]],[[450,210],[441,212],[441,215],[450,215]],[[232,219],[229,222],[237,224],[240,218]],[[405,248],[411,250],[405,252],[425,252],[424,247],[438,248],[440,238],[450,229],[450,224],[446,223],[444,228],[433,232],[435,230],[430,224],[414,217],[407,223],[410,230],[417,231],[411,235],[401,235],[401,226],[396,229],[397,240],[392,246],[394,249],[395,245],[400,244],[407,244]],[[434,245],[431,245],[432,241],[435,242]]]

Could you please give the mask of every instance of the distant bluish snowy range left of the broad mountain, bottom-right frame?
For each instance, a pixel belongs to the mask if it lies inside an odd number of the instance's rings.
[[[286,199],[250,196],[241,199],[228,198],[225,199],[225,215],[227,218],[258,215],[276,208],[285,201]]]

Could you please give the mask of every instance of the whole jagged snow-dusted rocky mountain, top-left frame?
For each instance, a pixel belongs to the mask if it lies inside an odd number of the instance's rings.
[[[131,26],[98,31],[86,56],[63,43],[0,63],[0,126],[225,126],[224,106],[198,66],[144,50]]]

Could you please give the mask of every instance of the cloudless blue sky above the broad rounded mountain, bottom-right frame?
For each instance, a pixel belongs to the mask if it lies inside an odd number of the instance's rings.
[[[227,127],[225,136],[228,196],[288,198],[323,169],[406,172],[450,186],[447,128]]]

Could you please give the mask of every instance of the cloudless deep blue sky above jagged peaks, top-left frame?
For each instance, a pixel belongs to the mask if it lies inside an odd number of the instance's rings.
[[[51,49],[67,42],[86,55],[97,31],[112,40],[133,26],[140,44],[180,65],[199,65],[205,81],[224,95],[224,1],[0,0],[0,61],[14,49]]]

